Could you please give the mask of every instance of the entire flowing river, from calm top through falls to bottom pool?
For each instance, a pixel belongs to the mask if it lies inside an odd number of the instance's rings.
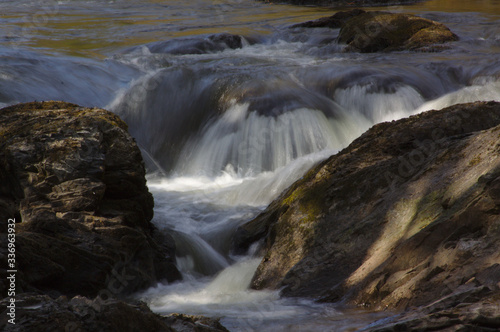
[[[0,106],[58,99],[119,114],[140,145],[153,222],[183,281],[139,297],[231,331],[351,331],[387,314],[249,289],[235,229],[370,126],[500,101],[500,1],[391,7],[460,37],[440,53],[342,53],[338,30],[290,29],[336,10],[252,0],[0,1]],[[228,33],[232,35],[221,35]]]

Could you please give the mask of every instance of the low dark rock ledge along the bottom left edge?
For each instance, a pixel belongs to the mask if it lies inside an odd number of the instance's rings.
[[[2,305],[7,302],[2,301]],[[153,313],[143,302],[91,300],[83,296],[22,294],[17,298],[16,324],[5,331],[155,331],[227,332],[217,319]]]

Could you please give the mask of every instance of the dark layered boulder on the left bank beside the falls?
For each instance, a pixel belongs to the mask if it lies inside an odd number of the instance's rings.
[[[0,223],[5,232],[16,221],[17,293],[109,298],[179,279],[173,241],[150,223],[144,176],[126,124],[108,111],[62,102],[0,110]]]

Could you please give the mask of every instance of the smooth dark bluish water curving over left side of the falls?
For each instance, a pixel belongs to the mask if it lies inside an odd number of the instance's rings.
[[[217,79],[185,67],[148,71],[109,105],[167,172],[188,138],[217,110]]]

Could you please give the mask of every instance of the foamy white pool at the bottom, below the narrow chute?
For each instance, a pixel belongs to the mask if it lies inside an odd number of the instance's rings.
[[[250,290],[259,263],[260,259],[242,259],[214,279],[188,277],[182,283],[159,285],[144,293],[143,299],[156,312],[181,310],[192,315],[222,317],[221,322],[231,331],[291,331],[293,325],[297,328],[305,322],[321,325],[320,313],[342,317],[333,307],[311,300],[281,299],[278,291]]]

